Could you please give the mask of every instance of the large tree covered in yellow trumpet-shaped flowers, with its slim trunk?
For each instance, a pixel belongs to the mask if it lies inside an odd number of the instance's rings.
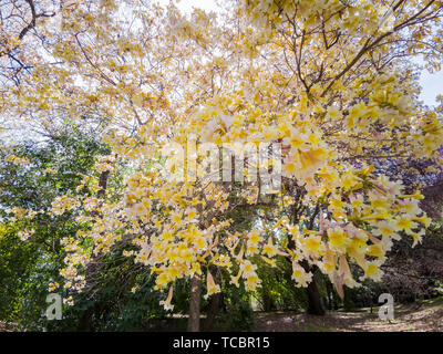
[[[101,178],[53,205],[90,226],[64,240],[66,288],[83,291],[100,254],[135,244],[125,254],[156,274],[166,309],[175,281],[193,279],[198,330],[202,279],[205,296],[223,290],[216,270],[254,291],[254,259],[284,257],[295,285],[319,270],[342,295],[381,279],[394,240],[420,242],[422,195],[387,162],[441,163],[442,117],[419,101],[414,58],[440,70],[442,1],[245,0],[189,15],[142,0],[11,3],[2,116],[110,127]],[[107,190],[115,170],[124,187]],[[240,207],[256,211],[250,230],[229,218]]]

